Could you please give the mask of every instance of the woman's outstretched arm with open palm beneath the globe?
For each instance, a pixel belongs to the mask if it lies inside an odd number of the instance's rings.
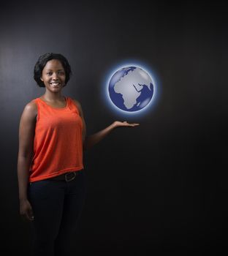
[[[110,124],[108,127],[100,130],[99,132],[94,133],[93,135],[86,136],[86,122],[83,116],[83,110],[79,102],[75,101],[77,108],[80,111],[80,117],[83,120],[83,149],[89,149],[94,146],[96,143],[99,143],[104,137],[106,137],[113,129],[117,127],[137,127],[140,124],[129,124],[127,121],[114,121],[113,124]]]

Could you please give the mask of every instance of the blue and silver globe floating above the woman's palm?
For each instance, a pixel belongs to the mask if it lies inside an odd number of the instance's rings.
[[[108,91],[117,108],[135,112],[142,110],[151,102],[153,81],[140,67],[123,67],[110,78]]]

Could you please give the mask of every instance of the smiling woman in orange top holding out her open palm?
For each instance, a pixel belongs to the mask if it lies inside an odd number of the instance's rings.
[[[20,214],[32,223],[34,255],[70,253],[69,242],[85,198],[83,149],[91,148],[126,121],[86,136],[83,110],[62,95],[71,67],[58,53],[45,53],[34,67],[34,80],[45,94],[25,106],[20,118],[18,187]]]

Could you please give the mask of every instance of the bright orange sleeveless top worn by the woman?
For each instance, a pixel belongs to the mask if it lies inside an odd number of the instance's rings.
[[[75,102],[70,97],[65,99],[64,108],[33,99],[37,104],[37,124],[29,182],[83,169],[83,121]]]

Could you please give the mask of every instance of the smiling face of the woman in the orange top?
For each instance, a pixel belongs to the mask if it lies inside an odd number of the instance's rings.
[[[58,59],[47,61],[44,69],[42,69],[42,77],[40,79],[49,91],[60,91],[64,87],[66,80],[65,70],[61,61],[58,61]]]

